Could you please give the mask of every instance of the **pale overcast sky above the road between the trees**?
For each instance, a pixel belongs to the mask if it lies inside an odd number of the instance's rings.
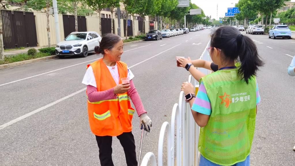
[[[219,17],[224,17],[227,12],[228,7],[234,7],[239,0],[191,0],[191,3],[196,4],[201,9],[203,9],[206,16],[211,15],[211,19],[219,19]],[[291,0],[294,2],[295,0]],[[218,14],[217,14],[217,4],[218,4]]]

